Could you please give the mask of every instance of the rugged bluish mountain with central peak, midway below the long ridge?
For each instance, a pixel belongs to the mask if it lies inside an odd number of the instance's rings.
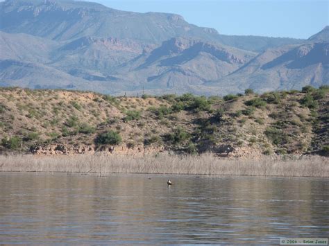
[[[255,55],[219,44],[173,38],[151,53],[122,64],[115,75],[124,74],[127,79],[137,81],[140,89],[202,94],[208,93],[207,82],[223,78]]]

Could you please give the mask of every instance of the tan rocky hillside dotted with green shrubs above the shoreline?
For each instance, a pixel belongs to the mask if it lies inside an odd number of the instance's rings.
[[[174,151],[221,157],[328,155],[329,88],[212,96],[112,97],[0,90],[1,152]]]

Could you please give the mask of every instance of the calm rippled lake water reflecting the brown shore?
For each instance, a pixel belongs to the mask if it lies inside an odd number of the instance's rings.
[[[151,177],[151,179],[149,179]],[[275,243],[329,236],[329,180],[0,173],[0,243]]]

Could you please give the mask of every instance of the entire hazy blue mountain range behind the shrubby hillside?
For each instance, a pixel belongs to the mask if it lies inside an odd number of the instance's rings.
[[[329,27],[309,39],[221,35],[180,15],[98,3],[0,3],[0,86],[204,95],[329,84]]]

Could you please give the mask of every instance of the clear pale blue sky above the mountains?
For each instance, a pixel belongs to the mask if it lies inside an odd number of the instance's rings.
[[[329,0],[89,1],[133,12],[175,13],[226,35],[308,38],[329,25]]]

